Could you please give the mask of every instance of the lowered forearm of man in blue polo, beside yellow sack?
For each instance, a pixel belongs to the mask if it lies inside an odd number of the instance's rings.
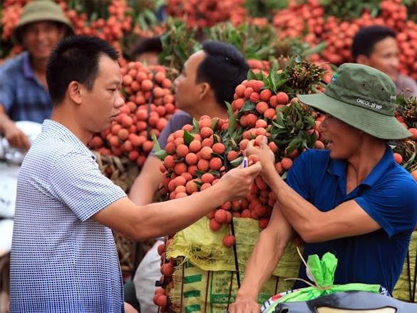
[[[259,235],[252,255],[249,257],[242,286],[237,297],[251,297],[256,300],[262,285],[271,277],[282,257],[286,242],[279,243],[263,230]]]

